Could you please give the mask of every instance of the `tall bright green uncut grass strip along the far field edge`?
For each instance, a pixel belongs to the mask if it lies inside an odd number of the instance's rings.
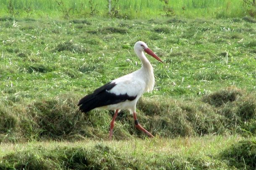
[[[165,3],[167,2],[167,3]],[[252,2],[252,0],[251,0]],[[107,0],[0,0],[0,13],[24,17],[72,18],[111,16],[117,18],[152,18],[183,16],[186,18],[230,18],[256,16],[252,5],[243,0],[113,0],[111,13]]]

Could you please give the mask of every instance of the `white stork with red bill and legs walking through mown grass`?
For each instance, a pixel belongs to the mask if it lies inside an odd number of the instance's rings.
[[[141,127],[136,116],[136,103],[138,99],[144,92],[152,91],[155,83],[153,67],[143,51],[158,61],[163,61],[143,41],[135,43],[134,51],[141,60],[141,69],[110,81],[96,89],[92,94],[84,96],[78,103],[81,112],[85,113],[95,108],[115,110],[114,117],[110,122],[110,140],[112,138],[115,118],[121,109],[130,110],[133,113],[136,128],[142,130],[150,137],[154,137],[146,129]]]

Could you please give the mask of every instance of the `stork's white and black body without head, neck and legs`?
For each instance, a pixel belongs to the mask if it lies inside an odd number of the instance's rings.
[[[153,90],[154,73],[153,68],[150,69],[151,73],[148,76],[144,76],[145,72],[147,71],[144,67],[142,67],[141,69],[134,71],[131,74],[122,76],[118,79],[110,81],[104,86],[99,87],[94,91],[94,97],[84,97],[86,99],[91,99],[93,102],[91,104],[87,103],[81,105],[80,109],[82,111],[84,110],[84,112],[89,112],[94,108],[108,110],[116,110],[118,108],[119,110],[130,110],[131,113],[135,112],[136,103],[141,95],[146,91],[150,92]],[[96,101],[97,99],[98,101]],[[104,100],[99,101],[101,99]],[[82,103],[86,102],[81,99],[78,105]]]

